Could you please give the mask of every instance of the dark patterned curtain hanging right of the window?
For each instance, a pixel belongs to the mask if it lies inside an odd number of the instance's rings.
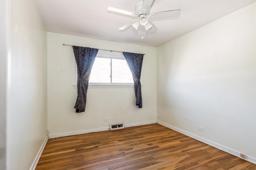
[[[140,74],[142,68],[142,60],[144,54],[136,53],[126,53],[123,52],[126,62],[132,72],[132,78],[134,82],[136,105],[142,107],[142,95],[141,95],[141,84],[140,84]]]

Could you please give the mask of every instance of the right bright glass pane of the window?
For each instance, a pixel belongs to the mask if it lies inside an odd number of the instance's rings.
[[[126,60],[112,59],[112,83],[133,83]]]

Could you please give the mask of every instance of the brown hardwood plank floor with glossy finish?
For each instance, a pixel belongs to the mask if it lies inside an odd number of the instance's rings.
[[[49,139],[36,170],[256,170],[159,124]]]

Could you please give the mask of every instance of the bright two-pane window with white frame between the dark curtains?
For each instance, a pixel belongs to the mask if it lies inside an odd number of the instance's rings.
[[[75,77],[77,82],[77,75]],[[92,66],[89,86],[133,87],[133,85],[132,73],[124,55],[120,52],[99,50]]]

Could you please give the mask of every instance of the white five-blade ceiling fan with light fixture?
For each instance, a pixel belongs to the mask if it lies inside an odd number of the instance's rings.
[[[161,17],[177,17],[180,16],[180,10],[170,10],[170,11],[162,11],[162,12],[155,12],[150,14],[150,9],[153,4],[154,0],[143,0],[142,2],[138,2],[135,5],[135,13],[129,12],[126,10],[121,10],[114,7],[108,7],[108,11],[117,12],[120,14],[125,14],[128,16],[136,17],[135,20],[127,23],[126,25],[120,27],[120,30],[124,30],[132,25],[136,30],[140,25],[144,26],[146,31],[150,28],[156,28],[156,26],[150,21],[150,18],[161,18]]]

